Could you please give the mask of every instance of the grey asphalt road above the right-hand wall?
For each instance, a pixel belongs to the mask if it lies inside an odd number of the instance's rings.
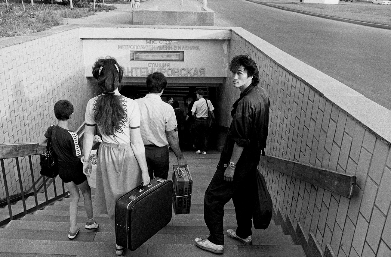
[[[283,11],[245,0],[208,0],[221,24],[243,27],[391,110],[391,30]]]

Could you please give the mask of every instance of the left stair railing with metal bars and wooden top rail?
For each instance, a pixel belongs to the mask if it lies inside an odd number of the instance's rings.
[[[79,135],[79,138],[83,137],[84,134],[84,123],[77,129],[77,134]],[[34,170],[33,170],[33,163],[32,163],[32,156],[38,156],[41,154],[45,154],[46,152],[46,146],[41,146],[38,145],[38,143],[20,143],[20,144],[2,144],[0,145],[0,164],[1,164],[1,169],[2,169],[2,175],[3,175],[3,181],[4,181],[4,187],[5,187],[5,195],[7,199],[7,206],[8,206],[8,212],[9,212],[9,217],[7,219],[4,219],[3,221],[0,221],[0,227],[4,226],[5,224],[9,223],[13,219],[20,219],[21,217],[31,214],[35,212],[36,210],[39,210],[41,208],[44,208],[47,205],[50,205],[54,203],[55,201],[58,201],[59,199],[62,199],[65,197],[69,192],[65,192],[65,185],[64,182],[61,180],[62,184],[62,194],[57,195],[57,188],[56,188],[56,179],[53,178],[46,178],[44,176],[39,176],[37,180],[34,179]],[[29,168],[30,168],[30,177],[32,181],[32,187],[29,188],[29,190],[25,190],[23,187],[22,183],[22,172],[20,168],[20,157],[28,157],[29,158]],[[15,197],[9,195],[9,188],[8,188],[8,183],[7,183],[7,174],[5,172],[5,165],[4,165],[4,160],[5,159],[15,159],[16,162],[16,170],[18,173],[18,180],[19,180],[19,187],[20,187],[20,194],[18,194],[18,197],[16,199],[22,199],[22,204],[23,204],[23,212],[19,214],[13,215],[12,213],[12,208],[11,204],[15,203]],[[42,181],[41,181],[42,180]],[[38,204],[38,190],[37,186],[39,183],[42,183],[39,185],[39,188],[42,188],[45,193],[45,201],[41,204]],[[54,187],[54,197],[50,198],[48,196],[47,192],[47,183],[53,183]],[[31,192],[32,191],[32,192]],[[29,196],[34,196],[35,200],[35,206],[32,208],[27,209],[26,206],[26,197]],[[12,201],[12,198],[14,200]],[[49,199],[50,198],[50,199]]]

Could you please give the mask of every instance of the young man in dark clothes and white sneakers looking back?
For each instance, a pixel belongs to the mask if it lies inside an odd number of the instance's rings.
[[[235,56],[230,63],[233,87],[240,97],[231,110],[232,122],[228,130],[217,170],[205,192],[204,219],[210,235],[196,238],[198,247],[223,253],[224,205],[232,198],[235,206],[237,229],[227,230],[228,236],[251,244],[253,195],[260,155],[264,154],[269,124],[269,97],[258,86],[258,68],[246,55]]]

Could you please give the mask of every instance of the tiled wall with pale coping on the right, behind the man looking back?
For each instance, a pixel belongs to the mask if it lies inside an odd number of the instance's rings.
[[[316,71],[260,38],[233,29],[230,58],[248,53],[258,64],[260,85],[271,99],[266,152],[357,176],[348,199],[267,167],[260,167],[275,207],[310,232],[325,250],[345,256],[391,256],[391,112],[342,83]],[[230,106],[239,97],[219,89],[222,126],[229,126]],[[387,125],[388,124],[388,125]]]

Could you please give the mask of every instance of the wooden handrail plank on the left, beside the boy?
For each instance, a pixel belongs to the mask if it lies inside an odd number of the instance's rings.
[[[38,143],[0,145],[0,159],[44,154],[45,152],[46,146],[40,146]]]

